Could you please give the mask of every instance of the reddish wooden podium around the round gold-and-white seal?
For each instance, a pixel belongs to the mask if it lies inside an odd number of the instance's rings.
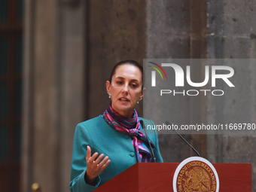
[[[112,178],[99,191],[173,191],[172,178],[179,163],[136,163]],[[212,163],[220,192],[251,192],[250,163]]]

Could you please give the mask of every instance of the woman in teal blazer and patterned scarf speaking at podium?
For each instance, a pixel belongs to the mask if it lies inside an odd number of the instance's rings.
[[[72,192],[93,191],[136,163],[152,162],[153,153],[157,162],[163,162],[157,133],[148,130],[146,136],[139,120],[145,126],[154,123],[139,118],[135,110],[145,93],[142,66],[133,60],[118,62],[106,89],[111,98],[108,108],[75,129],[69,184]]]

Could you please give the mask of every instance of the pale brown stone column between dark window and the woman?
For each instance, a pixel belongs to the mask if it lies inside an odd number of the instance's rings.
[[[22,190],[69,191],[72,140],[84,120],[85,2],[25,2]]]

